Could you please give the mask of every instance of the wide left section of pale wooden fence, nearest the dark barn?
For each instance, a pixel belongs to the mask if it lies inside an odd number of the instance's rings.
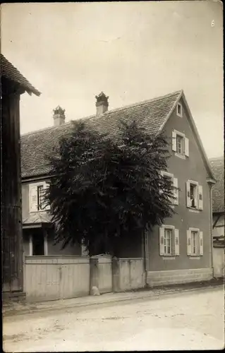
[[[90,259],[87,256],[26,256],[25,292],[30,301],[88,295]]]

